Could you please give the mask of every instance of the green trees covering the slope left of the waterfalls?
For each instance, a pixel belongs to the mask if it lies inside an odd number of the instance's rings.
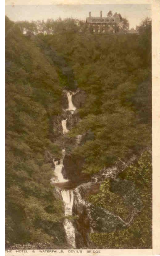
[[[6,240],[51,241],[63,233],[63,204],[53,194],[50,118],[60,113],[58,75],[18,24],[6,17]],[[62,235],[61,235],[62,236]],[[64,242],[61,238],[60,242]]]

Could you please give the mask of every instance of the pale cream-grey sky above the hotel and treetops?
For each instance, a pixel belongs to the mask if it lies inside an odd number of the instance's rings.
[[[150,4],[53,4],[53,5],[6,5],[5,14],[13,21],[77,18],[86,16],[107,16],[108,11],[120,13],[129,20],[130,28],[136,28],[143,19],[151,17]]]

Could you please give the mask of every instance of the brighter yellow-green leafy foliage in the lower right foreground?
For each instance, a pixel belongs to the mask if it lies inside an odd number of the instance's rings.
[[[139,191],[143,203],[141,211],[134,218],[133,222],[124,229],[118,229],[110,233],[91,233],[90,239],[98,248],[106,249],[146,249],[152,248],[152,156],[145,151],[137,163],[130,165],[121,178],[133,181]],[[109,195],[111,200],[106,200]],[[99,194],[90,196],[90,202],[102,205],[113,212],[114,208],[122,206],[120,200],[116,202],[117,195],[109,191],[109,183],[106,181],[101,187]],[[110,202],[111,206],[110,207]],[[121,208],[121,214],[125,216],[125,208]]]

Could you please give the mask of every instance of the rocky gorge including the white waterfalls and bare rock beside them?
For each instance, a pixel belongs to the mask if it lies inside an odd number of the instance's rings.
[[[54,160],[54,175],[52,179],[56,190],[61,194],[65,207],[64,228],[68,244],[72,248],[96,248],[96,245],[90,239],[90,234],[94,232],[112,232],[118,229],[124,229],[132,224],[134,217],[141,210],[141,199],[138,196],[135,184],[132,181],[122,180],[118,175],[137,159],[132,156],[126,163],[118,162],[111,168],[103,169],[98,174],[87,175],[82,173],[82,159],[74,159],[67,151],[67,136],[69,127],[73,127],[76,122],[73,119],[77,115],[76,107],[73,104],[72,96],[76,92],[66,91],[63,93],[67,96],[68,106],[64,110],[61,120],[63,149],[62,158]],[[80,100],[79,100],[80,101]],[[79,134],[70,142],[73,147],[82,142],[84,134]],[[106,210],[103,207],[96,207],[88,201],[88,197],[100,192],[101,185],[104,181],[110,180],[111,191],[124,200],[123,207],[126,208],[127,214],[115,214],[111,209]],[[116,198],[117,199],[117,198]],[[114,201],[112,202],[114,204]],[[116,211],[117,212],[117,211]],[[69,218],[69,216],[71,218]]]

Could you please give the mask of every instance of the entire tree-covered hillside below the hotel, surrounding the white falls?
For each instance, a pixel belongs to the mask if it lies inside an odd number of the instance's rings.
[[[22,25],[6,17],[7,247],[68,248],[69,218],[76,248],[151,248],[150,21],[139,35],[80,33],[72,19],[48,35]],[[69,182],[57,189],[59,162]]]

